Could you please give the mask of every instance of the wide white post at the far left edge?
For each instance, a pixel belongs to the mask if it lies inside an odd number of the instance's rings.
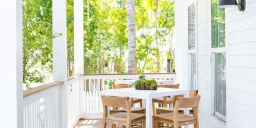
[[[0,127],[23,127],[22,0],[0,1]]]

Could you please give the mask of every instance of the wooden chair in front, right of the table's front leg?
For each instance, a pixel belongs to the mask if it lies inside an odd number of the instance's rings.
[[[160,123],[170,124],[174,128],[179,128],[181,126],[186,126],[189,124],[194,124],[195,128],[199,128],[198,119],[198,106],[199,106],[200,96],[195,97],[177,97],[174,105],[174,112],[165,114],[156,114],[153,116],[154,128],[159,127]],[[193,116],[181,114],[180,109],[193,108]]]

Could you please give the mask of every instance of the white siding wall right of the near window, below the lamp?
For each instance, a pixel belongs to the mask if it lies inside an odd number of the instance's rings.
[[[229,127],[256,127],[256,1],[226,9]]]

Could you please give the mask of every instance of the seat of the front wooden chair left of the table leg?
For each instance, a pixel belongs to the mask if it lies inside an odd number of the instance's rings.
[[[118,112],[116,114],[109,115],[106,119],[112,120],[112,121],[126,122],[127,121],[127,112]],[[141,119],[145,119],[145,114],[131,113],[130,119],[132,122],[140,121]]]

